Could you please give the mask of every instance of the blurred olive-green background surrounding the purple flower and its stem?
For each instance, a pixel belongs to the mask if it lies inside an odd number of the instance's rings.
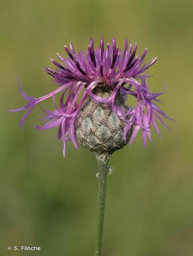
[[[67,143],[66,158],[57,130],[37,131],[39,115],[17,124],[25,104],[17,88],[38,97],[53,90],[43,66],[63,56],[74,42],[86,50],[89,37],[114,36],[119,47],[128,38],[148,47],[146,60],[153,92],[164,89],[161,108],[172,132],[160,127],[143,148],[133,145],[114,153],[110,165],[104,230],[104,256],[192,256],[192,43],[191,0],[0,1],[1,6],[1,172],[0,255],[91,256],[97,207],[97,164],[85,148]],[[53,108],[52,100],[42,103]],[[39,110],[40,106],[36,108]],[[41,251],[7,251],[7,245],[36,245]]]

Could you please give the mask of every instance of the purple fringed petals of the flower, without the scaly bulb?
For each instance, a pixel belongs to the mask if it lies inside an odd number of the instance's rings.
[[[58,86],[56,90],[45,96],[33,98],[25,94],[19,84],[21,96],[28,103],[21,108],[11,111],[27,111],[19,123],[22,130],[26,117],[34,109],[35,105],[51,97],[55,110],[53,112],[43,110],[44,115],[42,119],[45,120],[45,123],[42,126],[35,126],[35,128],[46,130],[58,127],[58,138],[63,141],[64,156],[66,140],[70,140],[78,148],[76,142],[76,120],[81,107],[88,97],[95,102],[108,104],[119,118],[127,122],[124,133],[125,140],[129,129],[134,125],[130,144],[133,142],[139,129],[141,129],[143,144],[146,146],[147,137],[152,140],[151,125],[154,126],[156,132],[160,135],[156,119],[168,128],[161,117],[173,119],[167,117],[155,104],[156,101],[159,102],[157,97],[162,93],[151,93],[146,81],[147,73],[143,74],[157,59],[154,58],[148,64],[144,64],[147,49],[143,51],[141,56],[139,54],[136,55],[137,44],[132,49],[132,45],[128,46],[126,39],[125,48],[122,51],[116,47],[114,38],[112,38],[112,46],[107,43],[106,49],[103,38],[100,41],[100,47],[95,50],[94,41],[90,38],[86,53],[82,50],[77,53],[71,43],[71,51],[67,46],[64,46],[64,48],[68,57],[63,58],[59,53],[57,54],[63,65],[51,58],[51,61],[57,67],[56,70],[44,68],[54,78],[53,81]],[[93,93],[93,89],[102,83],[107,84],[113,90],[109,98],[101,98]],[[115,104],[117,92],[120,92],[125,102],[128,96],[134,96],[136,98],[135,108],[132,109],[128,106],[128,112],[123,112]],[[61,98],[57,105],[55,95],[58,93],[61,93]]]

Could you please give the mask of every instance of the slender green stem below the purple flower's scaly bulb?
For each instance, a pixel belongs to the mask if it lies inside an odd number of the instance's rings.
[[[95,156],[99,165],[99,174],[98,174],[99,176],[98,176],[98,218],[97,218],[97,230],[96,230],[96,248],[95,248],[94,255],[101,256],[109,155],[101,154],[101,155],[95,155]]]

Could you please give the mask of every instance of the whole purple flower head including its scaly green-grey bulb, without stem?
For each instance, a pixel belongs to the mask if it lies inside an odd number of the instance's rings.
[[[76,52],[70,43],[70,50],[64,46],[68,57],[57,54],[62,65],[51,58],[56,70],[44,68],[54,78],[58,88],[53,92],[33,98],[19,90],[28,103],[21,108],[11,111],[26,110],[19,125],[23,130],[26,117],[41,101],[52,98],[55,110],[42,110],[42,126],[38,130],[58,127],[58,138],[63,141],[65,156],[65,141],[70,140],[76,148],[78,143],[95,153],[113,153],[122,148],[136,137],[139,129],[142,131],[143,144],[146,146],[147,137],[152,141],[150,128],[153,125],[161,136],[156,119],[166,128],[162,117],[167,117],[155,102],[162,93],[151,93],[148,89],[146,70],[153,65],[157,58],[144,64],[147,49],[142,55],[136,55],[137,44],[128,46],[125,40],[124,50],[116,47],[112,38],[112,46],[107,43],[104,47],[103,38],[100,47],[94,50],[93,39],[90,38],[88,50]],[[61,93],[59,104],[55,95]],[[135,108],[127,105],[127,98],[136,98]],[[129,102],[129,99],[128,99]],[[172,120],[172,119],[171,119]]]

